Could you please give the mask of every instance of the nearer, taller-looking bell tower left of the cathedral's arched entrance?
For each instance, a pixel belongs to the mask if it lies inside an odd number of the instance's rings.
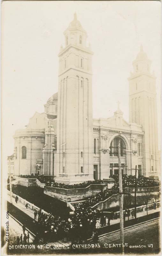
[[[93,180],[92,51],[76,13],[59,52],[56,182]]]

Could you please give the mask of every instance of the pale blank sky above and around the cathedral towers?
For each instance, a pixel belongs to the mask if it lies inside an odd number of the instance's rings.
[[[129,121],[128,77],[143,45],[152,61],[161,125],[161,4],[158,1],[4,1],[2,3],[2,159],[58,91],[58,53],[74,12],[86,30],[92,59],[93,117],[113,116],[117,101]],[[160,143],[159,143],[160,148]]]

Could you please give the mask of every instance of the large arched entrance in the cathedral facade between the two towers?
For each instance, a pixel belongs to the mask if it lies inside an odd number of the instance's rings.
[[[126,173],[126,144],[125,141],[116,136],[110,143],[110,175],[119,174],[118,143],[120,142],[122,174]]]

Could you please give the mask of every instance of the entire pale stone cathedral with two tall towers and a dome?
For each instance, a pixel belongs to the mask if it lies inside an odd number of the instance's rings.
[[[64,31],[58,93],[14,135],[13,174],[38,173],[67,184],[107,179],[118,173],[159,175],[156,77],[142,46],[129,81],[129,123],[118,108],[109,118],[92,117],[92,55],[77,15]],[[11,165],[9,165],[9,168]]]

